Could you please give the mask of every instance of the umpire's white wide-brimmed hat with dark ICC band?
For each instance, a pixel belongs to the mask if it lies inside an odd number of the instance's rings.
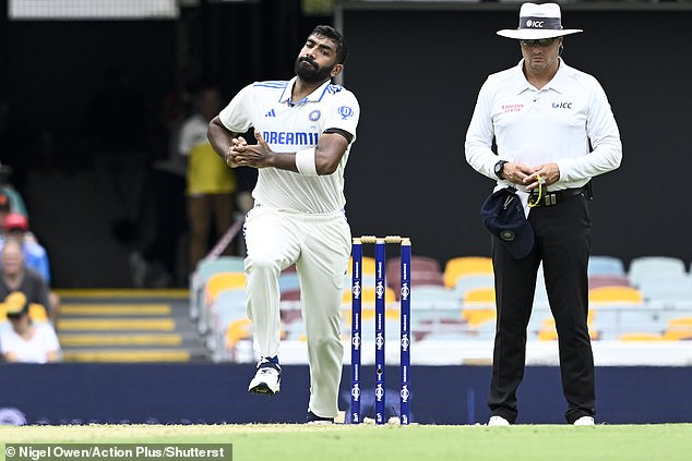
[[[520,40],[561,37],[583,32],[581,28],[562,28],[558,3],[524,3],[520,10],[518,28],[498,31],[498,35]]]

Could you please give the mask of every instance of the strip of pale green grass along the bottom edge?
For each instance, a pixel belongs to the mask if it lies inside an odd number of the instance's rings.
[[[232,444],[236,461],[688,461],[692,424],[0,426],[8,442]]]

